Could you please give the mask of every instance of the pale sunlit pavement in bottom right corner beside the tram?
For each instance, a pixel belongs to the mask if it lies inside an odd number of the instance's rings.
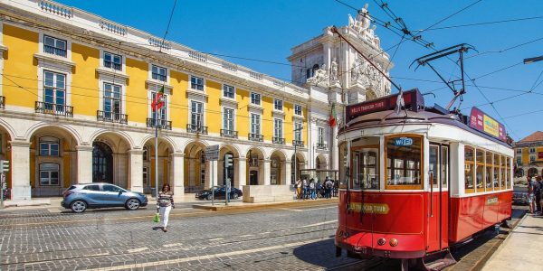
[[[543,216],[526,214],[482,270],[543,270]]]

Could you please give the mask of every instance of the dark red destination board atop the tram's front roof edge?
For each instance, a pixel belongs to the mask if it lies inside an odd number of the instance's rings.
[[[392,110],[396,106],[396,99],[398,94],[389,95],[383,98],[377,98],[371,101],[362,102],[355,105],[347,106],[346,117],[348,120],[354,119],[374,113],[378,111]],[[424,98],[418,89],[411,89],[404,91],[404,103],[405,108],[409,108],[413,111],[418,111],[419,108],[424,107]]]

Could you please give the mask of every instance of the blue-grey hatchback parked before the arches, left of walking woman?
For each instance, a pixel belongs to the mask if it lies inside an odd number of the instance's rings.
[[[71,185],[62,193],[62,207],[74,212],[83,212],[87,208],[124,207],[137,210],[147,206],[148,198],[144,193],[130,192],[117,185],[102,182]]]

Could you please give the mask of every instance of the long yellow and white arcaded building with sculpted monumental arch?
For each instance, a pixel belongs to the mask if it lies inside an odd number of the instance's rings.
[[[318,56],[308,57],[320,61],[310,77],[287,83],[52,1],[0,1],[0,15],[0,158],[11,161],[14,200],[60,195],[84,182],[150,192],[156,174],[177,196],[228,181],[290,185],[295,169],[300,176],[301,169],[338,168],[329,104],[347,96],[335,79],[316,79],[345,78],[349,89],[373,89],[375,97],[390,91],[362,70],[326,70],[336,60]],[[343,29],[355,31],[354,22]],[[357,59],[350,60],[352,50],[332,49],[345,45],[332,38],[325,30],[321,41],[335,52],[319,53],[348,69]],[[370,42],[379,49],[375,36]],[[291,61],[305,54],[300,46]],[[161,89],[165,106],[155,112]],[[369,97],[366,89],[358,95]],[[220,147],[214,163],[205,159],[210,145]],[[232,167],[224,167],[226,154]]]

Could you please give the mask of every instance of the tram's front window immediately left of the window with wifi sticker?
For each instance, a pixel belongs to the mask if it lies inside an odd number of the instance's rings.
[[[379,189],[379,147],[353,148],[353,188]]]

